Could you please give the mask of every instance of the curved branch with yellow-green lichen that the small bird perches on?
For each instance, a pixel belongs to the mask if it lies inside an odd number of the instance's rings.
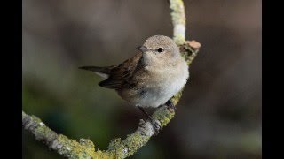
[[[174,27],[173,39],[179,46],[180,52],[188,65],[192,64],[194,57],[201,47],[199,42],[185,41],[185,7],[182,0],[170,0],[171,19]],[[177,105],[182,91],[171,98]],[[163,126],[168,125],[175,116],[175,111],[162,106],[154,111],[153,119]],[[57,134],[36,116],[29,116],[22,111],[22,126],[28,132],[33,133],[36,140],[43,141],[49,148],[57,151],[67,158],[126,158],[133,155],[137,150],[146,145],[154,135],[151,122],[140,120],[136,132],[127,135],[126,139],[114,139],[110,142],[107,150],[95,149],[91,140],[80,139],[75,141],[68,139],[62,134]]]

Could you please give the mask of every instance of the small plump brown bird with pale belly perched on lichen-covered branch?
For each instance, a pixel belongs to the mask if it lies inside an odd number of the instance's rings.
[[[106,67],[83,66],[105,80],[99,86],[116,90],[122,99],[138,106],[152,121],[145,107],[174,105],[170,98],[185,86],[188,66],[181,57],[177,44],[167,36],[154,35],[146,40],[141,52],[122,64]],[[155,129],[159,129],[154,124]]]

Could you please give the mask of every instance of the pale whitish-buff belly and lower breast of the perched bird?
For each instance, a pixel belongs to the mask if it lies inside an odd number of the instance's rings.
[[[119,95],[131,105],[156,108],[165,104],[185,86],[189,72],[185,64],[185,67],[177,69],[177,72],[155,70],[153,76],[154,78],[141,78],[139,81],[142,82],[138,82],[137,86],[124,88],[118,92]]]

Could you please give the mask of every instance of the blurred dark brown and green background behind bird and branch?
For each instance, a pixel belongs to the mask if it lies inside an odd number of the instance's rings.
[[[25,0],[23,110],[106,149],[144,117],[82,65],[119,64],[147,37],[172,36],[166,0]],[[185,0],[201,42],[177,115],[130,158],[261,158],[261,1]],[[23,158],[61,158],[22,133]]]

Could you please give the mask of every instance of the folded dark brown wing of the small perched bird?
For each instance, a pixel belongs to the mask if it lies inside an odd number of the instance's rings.
[[[109,72],[109,77],[106,80],[99,82],[99,86],[111,89],[122,87],[137,70],[138,62],[141,57],[142,53],[138,53],[134,57],[125,60],[122,64],[112,68]]]

